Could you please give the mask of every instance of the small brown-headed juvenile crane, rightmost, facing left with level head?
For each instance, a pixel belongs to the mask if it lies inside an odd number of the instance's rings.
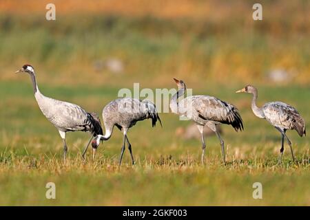
[[[258,92],[256,87],[252,85],[247,85],[243,89],[236,91],[236,93],[245,92],[248,94],[253,94],[253,99],[251,103],[251,109],[258,118],[265,118],[270,124],[272,124],[282,135],[282,146],[280,148],[280,155],[278,158],[278,163],[281,163],[282,155],[284,151],[284,138],[287,139],[289,147],[291,148],[291,156],[293,161],[295,157],[293,154],[293,148],[291,147],[291,141],[286,135],[286,131],[296,130],[298,135],[306,135],[306,127],[304,125],[304,119],[296,109],[291,107],[289,104],[284,102],[267,102],[261,108],[256,105],[256,100],[258,98]]]

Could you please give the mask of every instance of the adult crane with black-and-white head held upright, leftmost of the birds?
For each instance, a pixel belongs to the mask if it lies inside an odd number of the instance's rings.
[[[28,73],[30,75],[34,97],[39,104],[39,108],[43,115],[56,126],[56,129],[58,129],[63,139],[64,160],[68,151],[65,142],[65,134],[68,131],[87,131],[92,133],[88,144],[90,144],[93,136],[103,134],[101,122],[96,113],[88,113],[76,104],[55,100],[41,94],[37,85],[36,75],[34,74],[34,68],[31,65],[23,65],[23,67],[15,73]]]

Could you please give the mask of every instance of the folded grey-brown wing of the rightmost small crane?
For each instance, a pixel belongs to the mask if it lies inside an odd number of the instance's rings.
[[[265,118],[273,124],[284,129],[295,129],[300,136],[306,134],[304,119],[298,111],[284,102],[267,102],[262,107]]]

